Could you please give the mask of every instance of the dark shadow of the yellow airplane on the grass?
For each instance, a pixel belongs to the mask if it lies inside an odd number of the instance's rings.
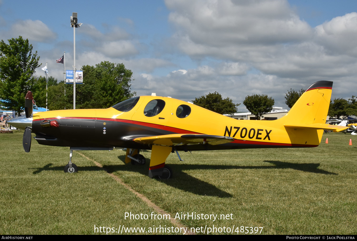
[[[118,156],[119,159],[122,159]],[[230,165],[196,165],[196,164],[170,164],[173,170],[173,178],[169,180],[160,180],[166,185],[172,186],[183,191],[191,192],[193,194],[202,196],[217,196],[217,197],[232,197],[228,192],[218,189],[216,186],[197,179],[191,175],[186,174],[186,170],[227,170],[227,169],[293,169],[297,171],[312,172],[316,174],[325,175],[338,175],[334,172],[328,172],[318,169],[318,163],[291,163],[283,161],[264,161],[273,164],[274,166],[230,166]],[[52,166],[52,163],[44,167],[36,168],[33,174],[38,174],[41,171],[63,171],[63,166]],[[139,172],[142,175],[147,175],[148,163],[146,165],[107,165],[103,168],[109,172],[115,171],[133,171]],[[79,166],[78,171],[99,171],[100,167],[97,166]],[[224,177],[222,177],[224,178]]]

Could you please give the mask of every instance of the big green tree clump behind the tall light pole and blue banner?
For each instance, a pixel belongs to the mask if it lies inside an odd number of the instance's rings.
[[[82,66],[83,85],[76,85],[76,109],[101,109],[136,95],[131,92],[132,71],[108,61]],[[64,88],[66,87],[66,96]],[[60,83],[49,90],[49,109],[73,108],[73,85]],[[52,99],[53,98],[53,99]]]

